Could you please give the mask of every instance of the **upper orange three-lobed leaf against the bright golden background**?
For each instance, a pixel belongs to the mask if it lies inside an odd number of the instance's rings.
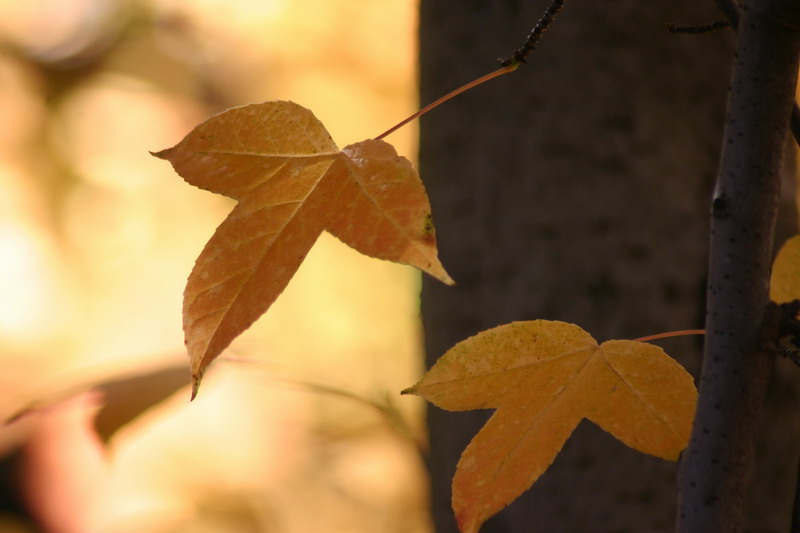
[[[184,292],[193,396],[206,367],[272,305],[322,231],[452,283],[422,182],[384,141],[339,151],[311,111],[267,102],[216,115],[154,155],[190,184],[238,201]]]

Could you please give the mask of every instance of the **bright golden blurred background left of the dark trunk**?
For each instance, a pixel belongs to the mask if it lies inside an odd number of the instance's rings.
[[[148,153],[275,99],[374,137],[415,34],[411,0],[0,0],[0,532],[430,530],[418,274],[323,235],[190,404],[182,291],[233,204]]]

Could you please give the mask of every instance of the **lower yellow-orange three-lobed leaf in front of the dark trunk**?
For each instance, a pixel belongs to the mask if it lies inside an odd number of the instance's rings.
[[[404,393],[449,411],[496,409],[461,455],[453,510],[475,533],[527,490],[587,418],[628,446],[676,460],[687,446],[697,391],[652,344],[598,346],[564,322],[513,322],[451,348]]]

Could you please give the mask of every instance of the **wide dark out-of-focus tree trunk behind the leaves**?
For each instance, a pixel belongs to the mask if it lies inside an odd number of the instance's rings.
[[[422,103],[494,68],[547,5],[422,0]],[[568,2],[529,65],[421,119],[420,171],[458,283],[423,281],[429,366],[512,320],[574,322],[599,341],[703,326],[734,38],[671,35],[665,23],[715,18],[694,0]],[[698,368],[698,339],[665,347]],[[438,533],[457,531],[450,479],[487,415],[429,411]],[[671,531],[675,472],[584,422],[482,531]]]

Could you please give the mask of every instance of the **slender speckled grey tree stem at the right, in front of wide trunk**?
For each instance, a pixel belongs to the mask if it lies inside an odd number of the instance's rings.
[[[712,208],[700,398],[679,468],[680,533],[741,529],[777,341],[768,280],[797,80],[800,2],[751,0],[736,16],[739,39]]]

